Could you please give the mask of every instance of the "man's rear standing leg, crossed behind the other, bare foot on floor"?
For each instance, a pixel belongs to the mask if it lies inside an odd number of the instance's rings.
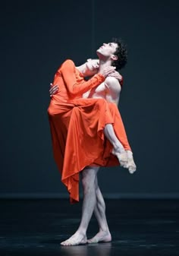
[[[96,206],[94,210],[96,219],[99,223],[99,232],[92,238],[89,239],[88,243],[97,243],[97,242],[110,242],[111,233],[108,229],[108,223],[105,216],[105,201],[102,197],[102,192],[99,189],[98,179],[96,175]]]

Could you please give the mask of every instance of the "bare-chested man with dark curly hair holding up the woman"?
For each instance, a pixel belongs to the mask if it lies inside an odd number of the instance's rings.
[[[111,66],[114,62],[116,62],[115,64],[118,65],[118,68],[122,68],[125,62],[124,53],[124,46],[118,41],[103,44],[103,46],[97,50],[97,55],[99,56],[99,72],[100,69]],[[100,84],[99,87],[92,89],[89,93],[86,93],[85,96],[90,98],[105,99],[109,102],[109,104],[115,103],[118,105],[120,92],[121,86],[118,83],[118,80],[114,77],[107,77],[105,82]],[[112,127],[109,124],[108,131],[110,131],[110,136],[115,137],[115,133],[112,133],[110,128]],[[127,153],[130,160],[133,161],[131,151],[127,151]],[[86,229],[88,227],[93,210],[99,223],[99,232],[93,239],[88,240],[88,242],[111,241],[111,234],[109,232],[107,220],[105,217],[105,202],[102,198],[102,194],[97,182],[97,172],[100,166],[100,164],[98,166],[98,163],[100,163],[100,157],[99,160],[96,160],[94,165],[86,166],[81,172],[84,197],[80,226],[77,229],[77,232],[75,232],[75,234],[72,235],[70,239],[62,242],[61,245],[79,245],[86,243]],[[132,172],[135,171],[135,167],[133,168]]]

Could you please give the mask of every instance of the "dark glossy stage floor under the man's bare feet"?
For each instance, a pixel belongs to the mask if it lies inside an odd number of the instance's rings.
[[[0,255],[179,255],[178,200],[105,200],[112,242],[61,247],[77,229],[81,202],[1,200]],[[93,218],[88,238],[97,231]]]

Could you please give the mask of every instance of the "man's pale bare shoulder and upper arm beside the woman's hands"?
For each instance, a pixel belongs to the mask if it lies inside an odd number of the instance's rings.
[[[110,103],[115,103],[118,106],[121,84],[115,77],[106,77],[105,79],[106,88],[106,100]]]

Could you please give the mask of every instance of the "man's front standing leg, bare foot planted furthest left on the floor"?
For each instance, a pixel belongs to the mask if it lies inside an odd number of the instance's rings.
[[[70,239],[61,242],[61,245],[81,245],[86,244],[86,230],[89,220],[96,205],[96,175],[99,167],[86,167],[82,171],[83,185],[83,207],[80,226]]]

